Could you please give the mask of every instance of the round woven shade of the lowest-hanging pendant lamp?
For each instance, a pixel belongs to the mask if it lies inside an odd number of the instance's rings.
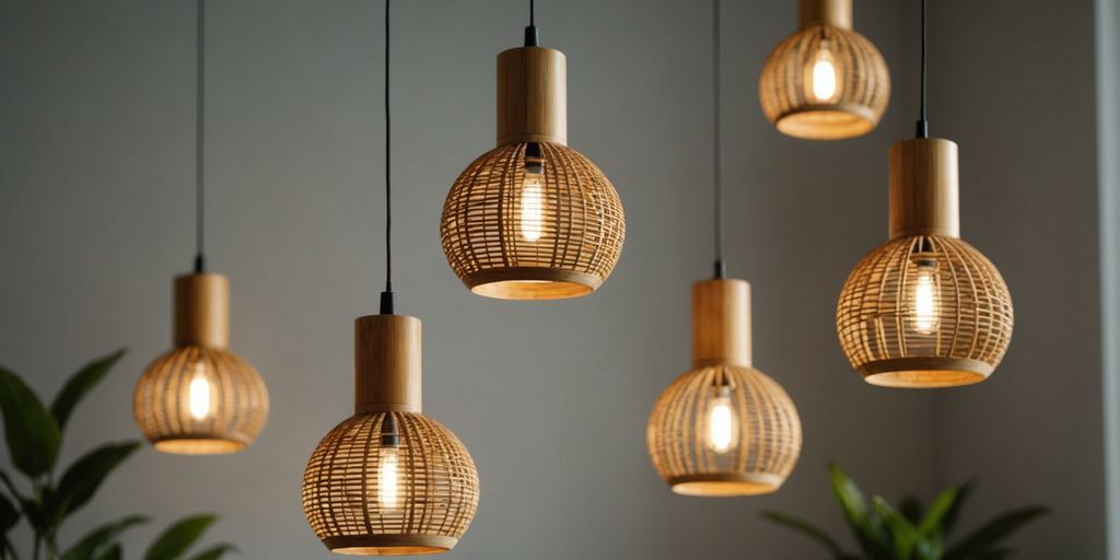
[[[383,497],[382,424],[395,420],[395,504]],[[478,507],[478,473],[466,447],[413,412],[355,414],[327,433],[304,472],[304,513],[333,552],[426,554],[450,550]]]

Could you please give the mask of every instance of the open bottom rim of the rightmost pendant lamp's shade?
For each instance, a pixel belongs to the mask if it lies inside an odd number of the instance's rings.
[[[972,385],[991,375],[993,367],[977,360],[904,357],[879,360],[860,368],[864,381],[897,389],[939,389]]]

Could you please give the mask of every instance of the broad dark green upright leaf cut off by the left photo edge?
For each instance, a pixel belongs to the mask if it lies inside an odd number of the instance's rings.
[[[16,468],[31,478],[49,472],[58,458],[58,446],[62,444],[58,423],[24,380],[2,367],[0,412],[3,413],[8,452]]]

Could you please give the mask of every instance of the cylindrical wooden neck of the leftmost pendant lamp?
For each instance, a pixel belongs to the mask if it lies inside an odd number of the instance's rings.
[[[213,272],[175,279],[175,345],[230,346],[230,280]]]

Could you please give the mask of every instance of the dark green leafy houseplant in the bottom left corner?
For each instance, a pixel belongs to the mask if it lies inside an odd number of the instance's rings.
[[[142,515],[123,516],[95,528],[66,548],[59,547],[59,530],[67,517],[86,505],[109,474],[140,447],[139,441],[105,444],[80,457],[60,476],[56,470],[63,435],[74,409],[123,355],[124,351],[118,351],[86,364],[66,382],[49,408],[19,375],[0,367],[0,412],[8,456],[15,470],[26,478],[26,484],[17,484],[7,468],[0,468],[0,559],[22,558],[11,532],[24,520],[34,535],[32,560],[121,560],[124,551],[118,541],[120,535],[148,522]],[[216,544],[186,556],[214,520],[207,514],[180,520],[160,534],[143,560],[217,560],[233,547]]]

